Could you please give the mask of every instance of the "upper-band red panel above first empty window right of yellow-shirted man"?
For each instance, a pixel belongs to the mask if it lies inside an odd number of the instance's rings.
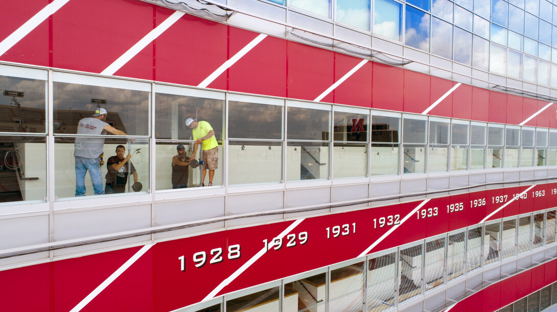
[[[240,51],[259,33],[230,27],[230,48]],[[267,36],[228,70],[228,90],[286,96],[286,40]]]

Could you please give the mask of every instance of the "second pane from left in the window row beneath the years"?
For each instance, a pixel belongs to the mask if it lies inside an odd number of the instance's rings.
[[[244,295],[238,298],[230,299],[226,301],[226,311],[240,312],[257,308],[258,310],[266,312],[278,312],[280,311],[279,289],[280,287],[277,286],[257,291],[255,293]],[[284,295],[286,297],[289,294],[285,293]]]

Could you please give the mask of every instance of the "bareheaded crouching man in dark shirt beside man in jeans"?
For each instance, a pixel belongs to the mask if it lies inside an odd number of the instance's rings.
[[[105,194],[123,193],[126,191],[128,175],[134,175],[134,183],[138,181],[138,173],[135,171],[134,164],[131,164],[131,155],[124,158],[126,148],[123,145],[116,146],[116,156],[112,156],[106,161]]]

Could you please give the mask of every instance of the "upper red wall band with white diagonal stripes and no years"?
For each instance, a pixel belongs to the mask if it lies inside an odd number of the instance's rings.
[[[30,0],[26,6],[4,2],[0,40],[49,1]],[[138,0],[70,0],[7,49],[0,61],[101,73],[172,13]],[[185,14],[114,75],[199,86],[259,35]],[[361,61],[266,36],[207,87],[314,101]],[[422,113],[455,85],[453,81],[370,61],[321,101]],[[429,114],[519,124],[547,104],[460,85]],[[545,110],[525,125],[556,128],[557,111]]]

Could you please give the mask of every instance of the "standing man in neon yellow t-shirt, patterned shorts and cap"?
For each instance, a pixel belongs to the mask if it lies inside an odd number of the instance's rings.
[[[217,138],[214,137],[214,130],[207,121],[197,121],[197,119],[192,118],[185,120],[185,125],[192,129],[193,140],[196,140],[192,155],[196,155],[197,147],[203,142],[203,174],[199,186],[205,186],[207,169],[209,170],[209,184],[207,186],[213,186],[214,171],[218,167],[218,143]],[[192,156],[192,159],[194,157]]]

